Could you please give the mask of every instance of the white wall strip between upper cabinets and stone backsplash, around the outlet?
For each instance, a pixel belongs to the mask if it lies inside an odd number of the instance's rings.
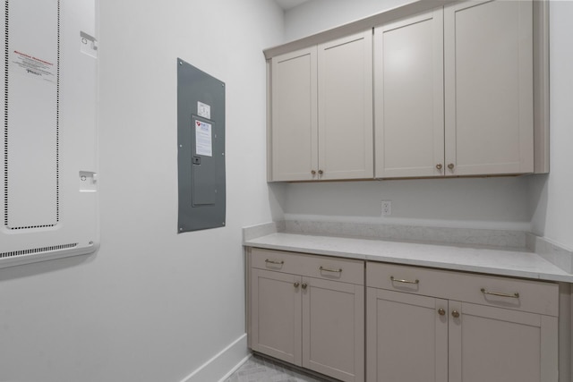
[[[529,230],[523,177],[293,183],[286,218],[442,227]],[[392,215],[381,216],[381,200]]]

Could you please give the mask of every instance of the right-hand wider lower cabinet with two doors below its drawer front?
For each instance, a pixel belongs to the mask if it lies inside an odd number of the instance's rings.
[[[366,268],[369,382],[558,382],[558,284]]]

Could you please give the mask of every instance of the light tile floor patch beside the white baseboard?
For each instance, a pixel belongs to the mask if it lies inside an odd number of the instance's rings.
[[[253,354],[225,382],[328,382]]]

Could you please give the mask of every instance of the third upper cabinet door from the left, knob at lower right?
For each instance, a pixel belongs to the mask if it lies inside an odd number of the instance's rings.
[[[443,11],[374,30],[376,177],[444,174]]]

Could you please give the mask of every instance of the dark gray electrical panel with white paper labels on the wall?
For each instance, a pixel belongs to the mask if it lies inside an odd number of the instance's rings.
[[[225,83],[177,59],[178,232],[225,225]]]

